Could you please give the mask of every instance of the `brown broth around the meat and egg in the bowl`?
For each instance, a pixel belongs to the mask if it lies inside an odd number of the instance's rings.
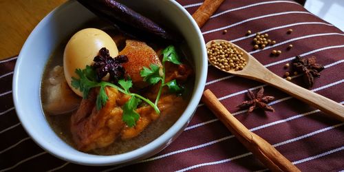
[[[45,99],[47,98],[47,96],[49,96],[45,95],[45,92],[43,91],[45,90],[45,85],[47,85],[47,78],[49,76],[48,74],[54,66],[63,64],[63,51],[66,43],[67,41],[61,43],[61,46],[56,48],[56,51],[52,54],[50,60],[47,62],[47,65],[45,67],[45,72],[43,74],[41,83],[42,107],[44,107],[45,105]],[[149,43],[149,45],[151,45],[151,47],[153,48],[158,47],[158,43]],[[183,108],[178,107],[178,109],[173,110],[171,114],[161,116],[158,120],[151,122],[149,127],[144,129],[144,131],[142,131],[142,133],[140,133],[140,135],[136,138],[132,138],[131,140],[120,140],[119,138],[115,140],[114,143],[110,144],[108,147],[95,149],[89,153],[97,155],[114,155],[125,153],[143,147],[145,144],[148,144],[149,142],[155,140],[155,138],[161,136],[162,133],[169,129],[169,127],[171,127],[175,123],[175,121],[178,120],[178,118],[186,108],[186,105],[189,103],[189,100],[191,98],[190,93],[192,93],[194,80],[195,79],[192,76],[191,79],[188,79],[188,83],[186,83],[186,93],[189,93],[189,95],[183,95]],[[67,144],[75,148],[76,145],[72,140],[72,133],[70,131],[70,118],[73,113],[75,113],[75,111],[67,114],[52,116],[49,113],[47,113],[47,111],[45,111],[45,117],[52,129],[54,130],[54,132],[62,140],[67,142]]]

